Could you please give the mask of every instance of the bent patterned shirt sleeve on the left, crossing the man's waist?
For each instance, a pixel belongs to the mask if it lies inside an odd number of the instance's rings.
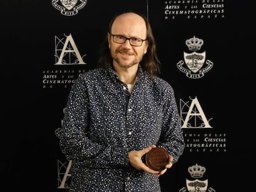
[[[88,138],[90,112],[85,80],[78,78],[67,99],[59,145],[68,160],[82,162],[86,167],[128,166],[127,148],[105,146]]]

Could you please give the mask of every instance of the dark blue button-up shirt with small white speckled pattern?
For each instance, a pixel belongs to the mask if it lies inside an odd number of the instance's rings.
[[[64,114],[60,146],[72,160],[71,192],[157,192],[155,174],[129,164],[128,153],[151,144],[177,162],[184,149],[173,88],[139,66],[132,93],[114,70],[93,69],[75,81]]]

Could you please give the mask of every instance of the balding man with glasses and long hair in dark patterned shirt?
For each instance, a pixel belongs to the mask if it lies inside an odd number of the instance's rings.
[[[157,77],[150,23],[126,12],[109,25],[100,67],[79,77],[69,94],[60,146],[72,160],[69,191],[161,191],[158,177],[181,156],[184,139],[173,88]],[[142,161],[156,146],[166,169]]]

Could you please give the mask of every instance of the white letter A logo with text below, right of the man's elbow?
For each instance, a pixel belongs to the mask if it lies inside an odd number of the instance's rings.
[[[180,99],[180,117],[186,151],[226,152],[226,133],[217,133],[213,130],[213,118],[207,118],[197,97],[190,98],[190,101]]]

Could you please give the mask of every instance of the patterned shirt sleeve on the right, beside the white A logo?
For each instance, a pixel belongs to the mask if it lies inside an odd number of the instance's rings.
[[[173,156],[173,163],[182,155],[185,143],[181,128],[181,120],[174,97],[173,88],[170,85],[163,89],[163,126],[158,146],[166,149]]]

